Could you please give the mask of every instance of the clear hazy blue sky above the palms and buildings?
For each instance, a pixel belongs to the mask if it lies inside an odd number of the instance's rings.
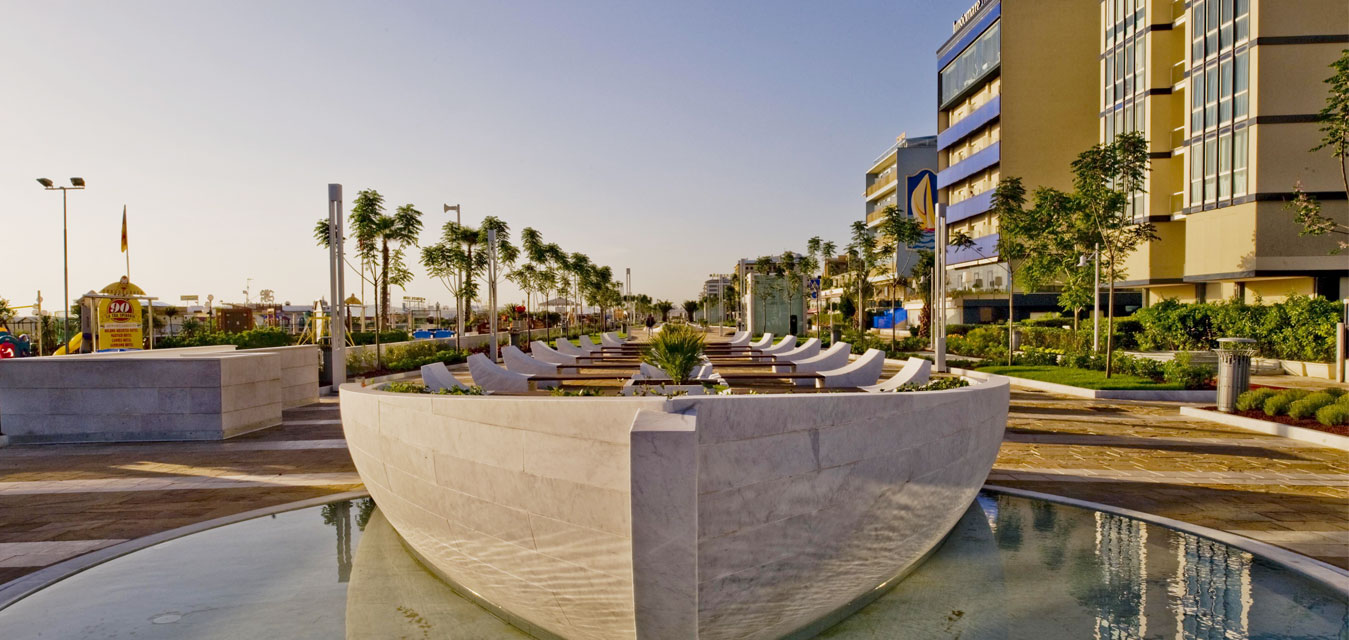
[[[123,205],[151,296],[326,297],[336,182],[348,209],[417,207],[422,244],[457,203],[677,304],[738,258],[846,240],[871,161],[935,134],[969,4],[0,0],[0,297],[58,305],[61,193],[35,178],[78,176],[71,297],[125,271]],[[451,304],[413,271],[395,304]]]

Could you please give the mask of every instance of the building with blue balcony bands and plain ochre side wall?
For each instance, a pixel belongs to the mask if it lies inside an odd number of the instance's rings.
[[[1110,0],[1113,1],[1113,0]],[[1083,0],[979,0],[938,49],[938,203],[950,232],[948,321],[1006,319],[1006,263],[990,213],[1002,177],[1071,189],[1070,165],[1099,140],[1101,7]],[[1117,298],[1125,306],[1137,296]],[[1017,317],[1059,312],[1052,292],[1017,293]]]

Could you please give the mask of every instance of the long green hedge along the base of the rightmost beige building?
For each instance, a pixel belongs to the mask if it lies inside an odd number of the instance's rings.
[[[1291,296],[1269,305],[1163,300],[1139,309],[1135,317],[1143,323],[1143,350],[1198,351],[1217,348],[1219,338],[1251,338],[1267,358],[1330,362],[1341,312],[1331,300]]]

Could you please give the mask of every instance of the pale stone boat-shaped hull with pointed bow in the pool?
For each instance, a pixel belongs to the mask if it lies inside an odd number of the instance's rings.
[[[429,564],[569,639],[769,639],[915,566],[987,477],[996,377],[947,392],[549,398],[341,388]]]

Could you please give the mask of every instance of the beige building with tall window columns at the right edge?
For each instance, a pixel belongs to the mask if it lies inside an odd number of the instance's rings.
[[[1299,236],[1286,209],[1302,182],[1322,213],[1349,217],[1338,163],[1310,151],[1322,80],[1349,43],[1349,3],[1091,4],[1099,139],[1141,131],[1152,157],[1130,207],[1160,239],[1129,257],[1124,285],[1147,304],[1349,294],[1349,258],[1329,254],[1330,238]]]

